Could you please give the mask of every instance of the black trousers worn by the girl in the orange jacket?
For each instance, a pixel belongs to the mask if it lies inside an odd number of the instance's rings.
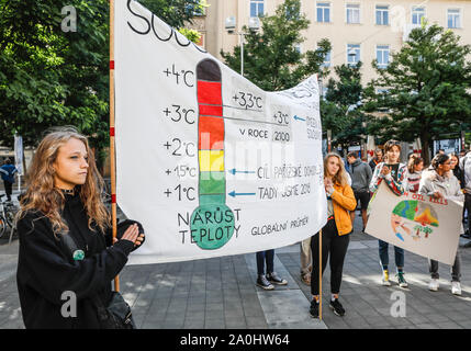
[[[339,236],[335,220],[330,219],[322,229],[322,273],[324,274],[327,259],[330,256],[330,292],[340,292],[341,274],[344,271],[344,260],[347,254],[350,235]],[[313,270],[311,273],[311,293],[318,295],[318,233],[311,238],[311,251],[313,256]]]

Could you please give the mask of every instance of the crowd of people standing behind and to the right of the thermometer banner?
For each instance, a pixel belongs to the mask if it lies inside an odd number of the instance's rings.
[[[346,310],[339,301],[344,261],[347,253],[350,235],[354,233],[354,219],[357,210],[361,212],[362,233],[369,217],[369,202],[380,184],[384,182],[389,190],[401,196],[404,192],[419,193],[435,199],[453,200],[463,203],[461,237],[471,239],[471,151],[459,155],[446,155],[440,149],[430,165],[414,152],[407,155],[407,161],[401,162],[401,144],[389,140],[383,149],[378,148],[374,157],[367,163],[355,151],[348,152],[346,161],[335,152],[324,158],[324,186],[327,196],[327,224],[322,228],[323,241],[319,253],[318,233],[300,242],[301,245],[301,281],[311,286],[312,301],[310,314],[318,318],[319,310],[319,261],[324,272],[327,261],[330,267],[330,299],[329,307],[337,316],[344,316]],[[468,228],[464,230],[464,228]],[[457,233],[458,235],[458,233]],[[400,233],[396,236],[402,238]],[[389,244],[379,241],[379,262],[381,265],[381,285],[390,286]],[[464,247],[471,247],[469,241]],[[319,258],[319,254],[322,257]],[[272,256],[269,254],[269,258]],[[259,275],[257,285],[271,290],[274,284],[287,284],[287,281],[270,274],[273,270],[272,259],[267,262],[269,274],[262,270],[261,253],[257,253]],[[396,267],[395,281],[402,288],[407,288],[405,280],[404,249],[394,246],[394,262]],[[261,269],[260,269],[261,268]],[[451,293],[461,295],[461,258],[459,250],[451,269]],[[438,291],[438,261],[428,259],[430,281],[428,288]]]

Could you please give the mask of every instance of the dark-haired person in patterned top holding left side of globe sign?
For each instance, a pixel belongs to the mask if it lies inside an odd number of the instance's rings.
[[[401,156],[401,145],[397,140],[388,140],[384,144],[385,150],[385,161],[380,162],[374,168],[373,178],[370,183],[370,191],[375,192],[380,186],[381,182],[384,181],[388,184],[388,188],[397,196],[401,196],[404,193],[403,180],[407,171],[407,168],[404,163],[400,163],[399,159]],[[382,284],[385,286],[391,286],[389,279],[389,253],[388,253],[389,244],[379,240],[379,253],[380,262],[383,270]],[[408,284],[404,279],[404,249],[394,246],[394,258],[395,265],[397,268],[397,283],[400,287],[407,287]]]

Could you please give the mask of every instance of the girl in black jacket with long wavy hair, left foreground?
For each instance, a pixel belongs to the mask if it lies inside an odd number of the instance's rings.
[[[27,329],[102,328],[98,304],[108,306],[113,278],[144,242],[132,220],[120,223],[112,242],[102,185],[85,136],[63,128],[40,143],[16,225],[16,285]]]

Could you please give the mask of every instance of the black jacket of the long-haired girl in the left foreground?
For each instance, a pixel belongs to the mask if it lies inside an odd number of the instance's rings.
[[[88,217],[79,195],[66,195],[63,217],[69,235],[85,252],[83,260],[74,260],[60,235],[54,235],[47,217],[41,212],[29,212],[18,222],[20,252],[16,283],[21,312],[26,328],[99,328],[97,308],[91,297],[98,295],[104,304],[111,298],[111,282],[127,262],[134,244],[119,240],[112,244],[111,229],[103,235],[88,227]],[[135,222],[117,226],[117,238]],[[139,233],[144,233],[141,225]],[[74,292],[77,317],[64,317]],[[70,312],[70,308],[68,308]]]

